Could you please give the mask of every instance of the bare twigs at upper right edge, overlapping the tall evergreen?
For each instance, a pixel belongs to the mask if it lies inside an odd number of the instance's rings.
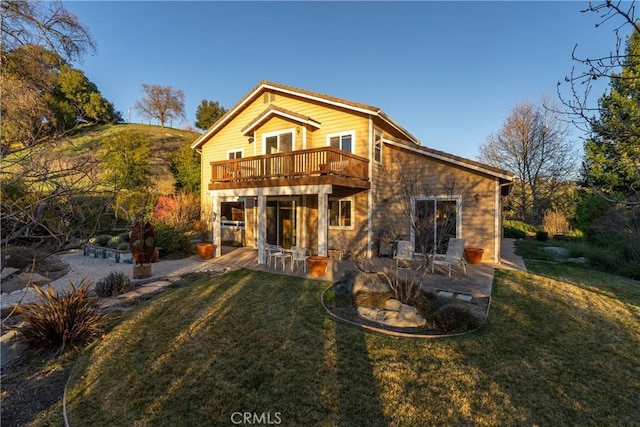
[[[635,6],[635,1],[606,0],[590,2],[582,10],[598,15],[596,28],[611,28],[614,47],[609,52],[584,56],[578,54],[576,45],[572,52],[576,65],[564,84],[558,82],[557,86],[563,112],[589,135],[583,164],[585,183],[608,201],[627,205],[640,204],[640,100],[636,89],[640,82],[640,21]],[[609,84],[608,93],[593,94],[595,85],[602,80]],[[594,95],[597,101],[593,100]],[[595,163],[600,164],[594,168]],[[601,177],[594,177],[594,172],[597,175],[602,171],[612,176],[613,182],[624,183],[626,191],[622,193],[627,193],[626,199],[612,195],[611,188],[603,188],[607,186],[601,185]]]

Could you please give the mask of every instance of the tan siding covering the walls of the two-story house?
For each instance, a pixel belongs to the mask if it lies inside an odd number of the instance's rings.
[[[202,191],[205,196],[207,184],[210,182],[210,162],[226,159],[228,150],[244,149],[244,156],[263,154],[262,136],[268,132],[300,128],[295,132],[295,148],[302,149],[303,125],[299,121],[290,120],[274,115],[260,124],[255,131],[255,142],[248,142],[249,135],[243,135],[242,129],[260,116],[270,104],[282,109],[307,116],[320,123],[319,128],[306,127],[306,148],[324,147],[327,135],[355,131],[355,153],[369,158],[369,120],[370,116],[354,111],[343,110],[330,105],[303,100],[291,95],[276,94],[275,99],[264,102],[260,96],[249,103],[233,119],[219,130],[202,147]],[[373,118],[375,128],[381,130],[385,138],[398,141],[401,133],[379,118]],[[254,136],[254,135],[251,135]],[[403,142],[401,142],[403,143]],[[413,143],[406,142],[413,147]],[[371,160],[373,162],[373,160]],[[350,194],[354,200],[354,229],[329,230],[329,248],[341,246],[341,239],[349,241],[349,250],[366,250],[368,234],[368,197],[370,194],[373,206],[371,212],[372,234],[374,238],[384,229],[393,229],[395,233],[409,238],[410,227],[408,219],[409,204],[402,203],[398,197],[398,185],[392,176],[402,171],[409,176],[418,177],[421,195],[459,195],[462,197],[462,237],[468,246],[478,246],[485,249],[485,261],[491,261],[494,256],[495,212],[495,178],[471,172],[431,159],[423,154],[413,153],[390,145],[383,147],[382,165],[371,165],[371,189],[369,192]],[[453,192],[450,187],[453,187]],[[476,200],[476,195],[478,196]],[[349,196],[334,191],[334,196]],[[206,200],[207,197],[203,197]],[[317,252],[317,197],[315,194],[303,196],[299,209],[299,218],[305,231],[300,235],[300,244]],[[248,246],[256,242],[256,210],[252,201],[247,200],[246,240]],[[374,242],[375,243],[375,242]],[[342,245],[343,246],[343,245]],[[376,248],[374,247],[374,253]]]

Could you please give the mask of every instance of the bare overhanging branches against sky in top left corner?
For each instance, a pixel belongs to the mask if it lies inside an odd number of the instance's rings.
[[[95,49],[89,30],[61,1],[4,0],[0,2],[0,11],[4,51],[40,45],[72,60]]]

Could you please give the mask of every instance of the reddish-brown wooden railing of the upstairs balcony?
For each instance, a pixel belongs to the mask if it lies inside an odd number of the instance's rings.
[[[368,179],[364,157],[334,147],[312,148],[211,162],[212,183],[335,175]]]

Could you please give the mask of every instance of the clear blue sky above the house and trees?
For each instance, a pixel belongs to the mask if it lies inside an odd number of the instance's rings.
[[[467,158],[515,105],[557,98],[576,44],[585,57],[615,48],[587,6],[65,2],[98,46],[77,66],[132,122],[143,83],[182,89],[193,124],[201,100],[229,108],[270,80],[377,106],[422,145]]]

